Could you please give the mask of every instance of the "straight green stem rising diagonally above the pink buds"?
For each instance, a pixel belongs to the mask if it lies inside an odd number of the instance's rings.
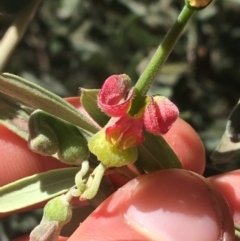
[[[135,89],[141,96],[146,95],[151,84],[153,83],[158,71],[168,58],[171,53],[175,43],[180,37],[185,25],[194,13],[193,9],[184,6],[181,13],[179,14],[177,21],[173,27],[169,30],[162,43],[158,46],[155,54],[153,55],[151,61],[143,71],[142,75],[138,79]]]

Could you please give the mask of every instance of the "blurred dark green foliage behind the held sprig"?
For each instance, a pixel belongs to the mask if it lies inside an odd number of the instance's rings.
[[[134,82],[183,4],[184,0],[43,1],[5,72],[62,97],[79,95],[79,87],[100,88],[111,74],[126,73]],[[240,0],[215,0],[196,12],[150,90],[177,104],[181,117],[204,141],[208,160],[239,99],[239,12]],[[1,37],[13,19],[14,14],[2,10]],[[33,217],[26,214],[29,218]],[[39,218],[35,215],[31,223]],[[16,225],[25,219],[2,222],[0,240],[28,232],[31,225]]]

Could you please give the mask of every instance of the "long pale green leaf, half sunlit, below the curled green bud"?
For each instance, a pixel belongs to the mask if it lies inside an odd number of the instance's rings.
[[[77,167],[29,176],[0,188],[0,213],[22,209],[65,193],[75,185]]]

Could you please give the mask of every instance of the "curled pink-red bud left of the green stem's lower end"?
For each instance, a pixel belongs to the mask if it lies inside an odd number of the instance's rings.
[[[106,79],[99,94],[98,105],[109,116],[125,115],[131,105],[133,88],[126,74],[112,75]]]

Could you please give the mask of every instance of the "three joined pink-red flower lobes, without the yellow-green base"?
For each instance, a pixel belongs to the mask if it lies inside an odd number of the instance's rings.
[[[105,127],[106,141],[120,150],[140,145],[144,141],[143,127],[154,135],[162,135],[178,117],[177,107],[163,96],[145,97],[145,106],[130,116],[128,111],[134,97],[130,82],[125,74],[112,75],[98,94],[99,107],[115,117]]]

